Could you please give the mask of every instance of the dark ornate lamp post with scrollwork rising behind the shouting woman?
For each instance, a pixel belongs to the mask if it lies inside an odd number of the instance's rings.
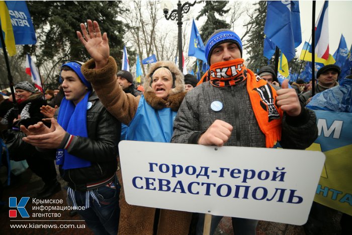
[[[178,47],[179,47],[179,68],[181,71],[183,71],[182,67],[182,17],[184,14],[187,14],[190,11],[190,8],[193,7],[196,4],[197,1],[194,1],[193,4],[186,2],[184,4],[181,4],[181,1],[177,4],[177,10],[174,9],[168,14],[168,9],[164,8],[164,16],[166,20],[175,20],[177,21],[177,25],[179,27],[179,34],[178,34]]]

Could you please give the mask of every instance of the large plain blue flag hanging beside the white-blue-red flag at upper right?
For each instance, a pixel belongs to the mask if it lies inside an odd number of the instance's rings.
[[[302,42],[298,1],[268,1],[264,33],[291,61]]]

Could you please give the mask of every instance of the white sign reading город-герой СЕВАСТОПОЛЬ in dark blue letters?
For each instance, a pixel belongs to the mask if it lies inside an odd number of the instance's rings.
[[[302,225],[325,155],[319,151],[121,141],[132,205]]]

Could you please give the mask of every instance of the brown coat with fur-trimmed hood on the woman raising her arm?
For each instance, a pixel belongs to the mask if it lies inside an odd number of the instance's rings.
[[[175,74],[175,87],[170,91],[167,100],[155,96],[150,88],[150,73],[158,66],[168,66]],[[87,61],[81,68],[85,78],[90,81],[98,97],[107,110],[119,121],[128,125],[136,114],[140,96],[125,94],[116,79],[117,65],[110,57],[108,64],[95,69],[93,59]],[[186,92],[184,92],[183,75],[172,62],[155,63],[145,77],[144,98],[154,109],[171,108],[178,111]],[[123,186],[121,171],[118,179]],[[123,187],[120,193],[120,222],[118,234],[153,234],[155,208],[129,205],[125,200]],[[160,210],[157,234],[188,234],[192,213],[175,210]]]

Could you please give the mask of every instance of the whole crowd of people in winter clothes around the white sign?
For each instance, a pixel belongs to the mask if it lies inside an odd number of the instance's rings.
[[[132,74],[117,70],[99,24],[89,20],[80,27],[78,39],[92,59],[63,64],[60,89],[45,95],[29,82],[18,83],[18,111],[0,96],[0,114],[3,129],[24,133],[21,139],[32,146],[25,159],[44,182],[37,197],[60,191],[61,177],[68,203],[85,207],[77,212],[95,234],[203,234],[204,214],[194,222],[191,212],[126,202],[118,161],[122,139],[263,148],[280,142],[305,149],[317,138],[315,113],[305,107],[311,84],[297,80],[290,89],[270,65],[255,74],[231,30],[216,30],[207,40],[210,69],[202,81],[184,76],[171,61],[158,61],[136,89]],[[339,73],[336,65],[320,68],[315,93],[337,87]],[[211,234],[221,218],[212,216]],[[236,234],[255,234],[257,223],[232,218]]]

